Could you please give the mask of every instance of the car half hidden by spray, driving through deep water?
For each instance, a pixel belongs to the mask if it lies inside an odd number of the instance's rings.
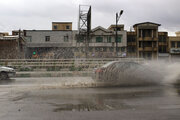
[[[143,64],[112,61],[96,68],[94,78],[98,83],[129,86],[157,84],[161,76]]]

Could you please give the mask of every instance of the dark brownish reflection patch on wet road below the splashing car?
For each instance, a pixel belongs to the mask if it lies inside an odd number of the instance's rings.
[[[76,102],[67,101],[67,103],[50,103],[54,106],[54,112],[61,111],[110,111],[120,109],[133,109],[134,105],[127,104],[128,100],[148,98],[152,96],[161,96],[161,89],[139,88],[102,88],[94,89],[96,92],[80,95],[63,95],[62,98],[68,98]],[[74,90],[76,91],[76,90]],[[114,91],[114,92],[112,92]]]

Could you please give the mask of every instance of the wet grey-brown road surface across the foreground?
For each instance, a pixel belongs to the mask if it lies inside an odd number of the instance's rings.
[[[95,88],[89,77],[0,81],[0,120],[180,120],[180,87]]]

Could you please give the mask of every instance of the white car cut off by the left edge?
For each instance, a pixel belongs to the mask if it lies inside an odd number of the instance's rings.
[[[15,75],[16,72],[13,68],[0,66],[0,80],[7,80]]]

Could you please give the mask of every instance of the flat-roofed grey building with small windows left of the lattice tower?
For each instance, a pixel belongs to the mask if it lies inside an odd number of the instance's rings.
[[[73,31],[25,30],[26,58],[72,58]]]

